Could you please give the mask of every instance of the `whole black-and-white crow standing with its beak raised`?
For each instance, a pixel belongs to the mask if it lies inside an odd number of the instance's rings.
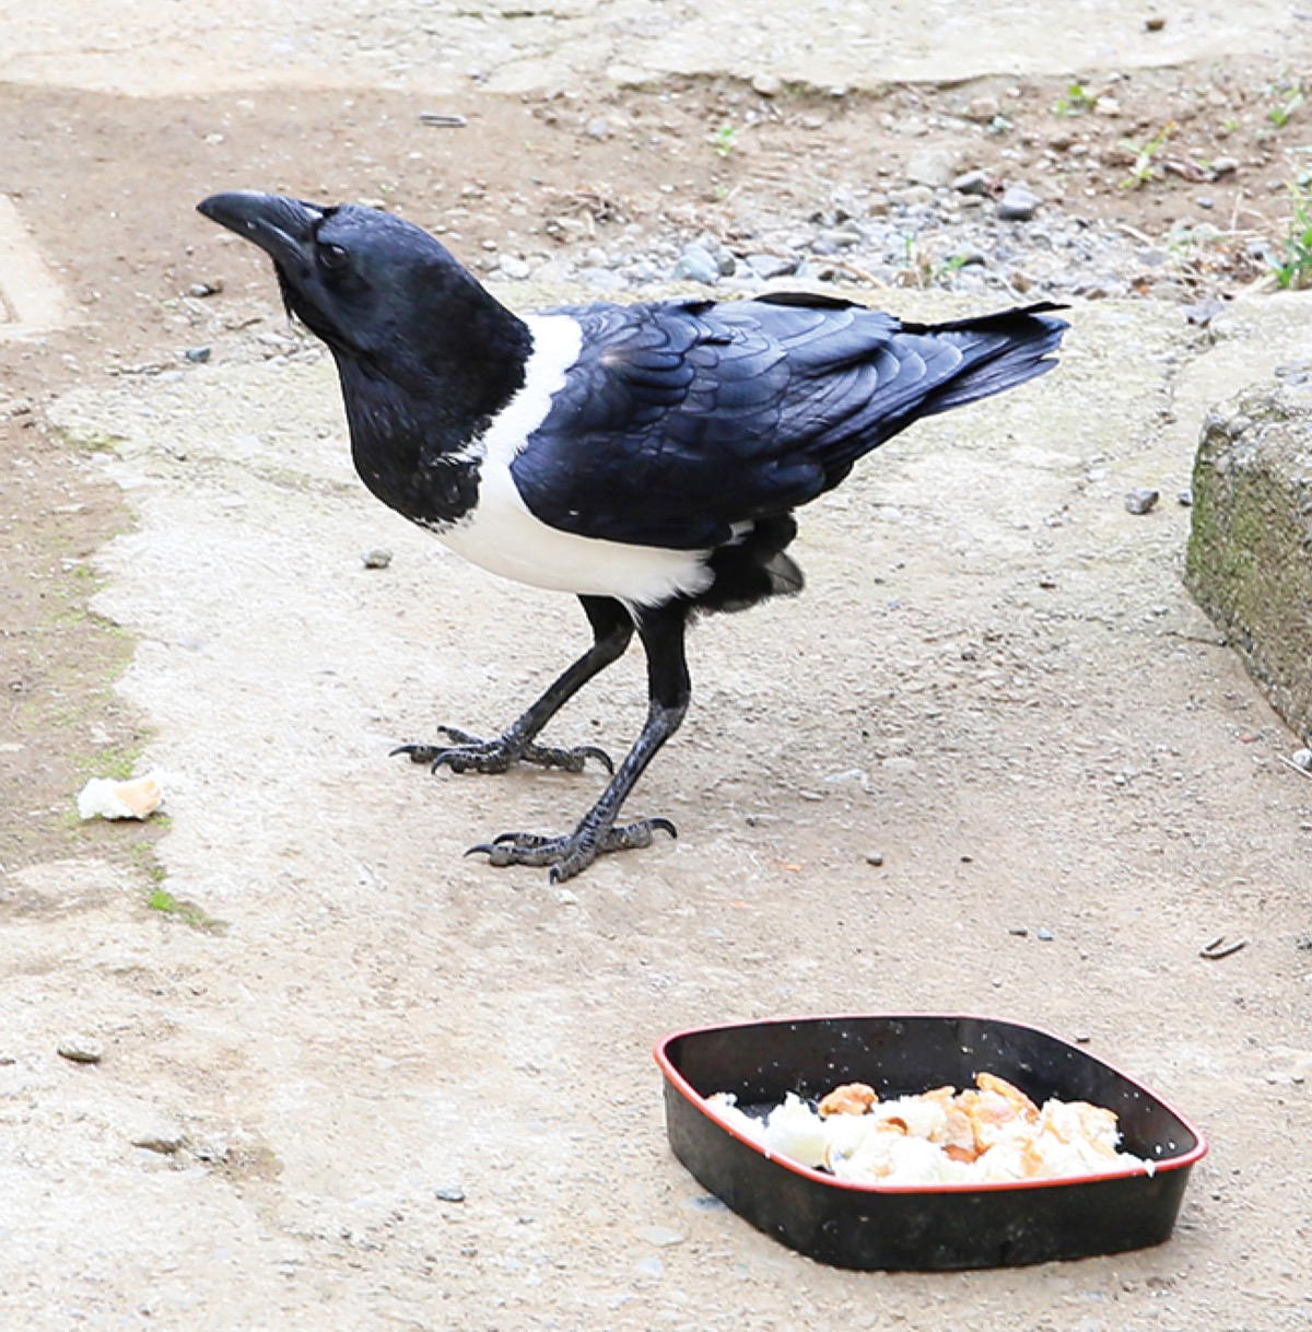
[[[919,417],[1050,370],[1067,328],[1047,304],[919,325],[791,292],[518,316],[389,213],[245,190],[200,210],[269,254],[289,312],[328,344],[365,485],[484,569],[582,603],[591,647],[502,735],[441,726],[441,743],[397,750],[458,773],[605,765],[571,832],[472,848],[554,880],[674,834],[617,817],[687,710],[690,618],[799,591],[795,509]],[[634,633],[649,711],[618,770],[593,746],[539,745]]]

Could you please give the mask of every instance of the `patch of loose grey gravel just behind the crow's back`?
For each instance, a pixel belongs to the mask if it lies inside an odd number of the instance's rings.
[[[1172,253],[1068,210],[1055,193],[1042,177],[1006,181],[926,145],[900,178],[834,189],[806,216],[787,210],[795,205],[743,198],[697,213],[694,225],[691,210],[673,204],[667,214],[586,236],[569,218],[549,220],[549,252],[501,254],[489,277],[578,284],[607,300],[673,280],[725,298],[856,284],[886,308],[895,300],[884,288],[936,288],[996,304],[1149,296],[1203,309]],[[1207,317],[1221,308],[1207,305]]]

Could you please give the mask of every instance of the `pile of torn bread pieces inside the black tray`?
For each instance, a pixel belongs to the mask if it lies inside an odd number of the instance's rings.
[[[767,1155],[854,1184],[994,1184],[1155,1169],[1153,1162],[1118,1151],[1112,1111],[1055,1098],[1040,1108],[988,1072],[976,1074],[966,1091],[936,1087],[892,1100],[880,1100],[866,1083],[846,1083],[814,1110],[789,1092],[765,1119],[741,1110],[731,1092],[707,1096],[706,1104]]]

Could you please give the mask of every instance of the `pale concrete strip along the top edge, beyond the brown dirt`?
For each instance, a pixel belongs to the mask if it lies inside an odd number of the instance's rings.
[[[0,79],[135,96],[222,88],[409,88],[458,95],[667,73],[769,73],[818,87],[1135,69],[1268,55],[1296,68],[1308,24],[1284,0],[329,0],[217,7],[164,0],[47,0],[0,12]],[[95,40],[88,40],[95,33]],[[1305,63],[1305,61],[1304,61]]]

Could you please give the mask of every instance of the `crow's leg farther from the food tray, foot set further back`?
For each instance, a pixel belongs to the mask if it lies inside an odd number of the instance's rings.
[[[401,745],[392,753],[408,754],[412,763],[428,763],[434,773],[444,765],[454,773],[505,773],[511,763],[535,763],[539,767],[561,767],[567,773],[581,773],[590,758],[602,763],[609,773],[614,773],[615,765],[610,761],[610,755],[594,745],[550,749],[533,743],[538,731],[569,699],[594,675],[623,655],[633,638],[633,617],[618,601],[610,597],[578,599],[593,626],[593,646],[505,734],[485,741],[454,726],[440,726],[438,730],[452,743]]]

